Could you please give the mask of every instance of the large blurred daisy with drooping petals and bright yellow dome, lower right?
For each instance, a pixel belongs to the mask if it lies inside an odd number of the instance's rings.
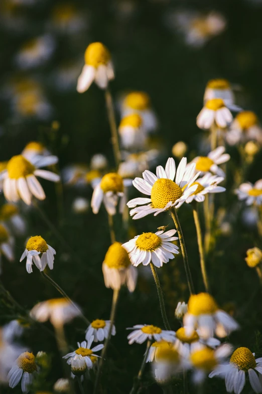
[[[192,294],[188,301],[188,312],[183,319],[185,333],[190,336],[197,329],[201,338],[226,337],[239,328],[236,321],[219,309],[214,298],[208,293]]]

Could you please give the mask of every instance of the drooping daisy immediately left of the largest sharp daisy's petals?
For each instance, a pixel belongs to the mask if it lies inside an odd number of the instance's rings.
[[[119,197],[119,212],[122,213],[126,204],[126,193],[124,189],[125,186],[129,186],[130,184],[131,180],[122,179],[117,173],[104,175],[93,191],[91,199],[93,213],[98,213],[103,201],[107,213],[109,215],[115,215]]]

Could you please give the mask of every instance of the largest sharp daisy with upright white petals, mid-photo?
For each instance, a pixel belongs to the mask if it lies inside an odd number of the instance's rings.
[[[196,185],[192,186],[198,177],[198,174],[194,176],[196,165],[191,163],[186,167],[187,159],[183,157],[176,172],[175,161],[169,157],[165,170],[162,166],[157,167],[157,176],[146,170],[143,173],[144,179],[135,178],[133,185],[151,198],[134,198],[128,201],[129,208],[142,205],[130,211],[130,215],[134,215],[133,219],[140,219],[150,213],[156,216],[173,206],[179,208],[197,189]]]

